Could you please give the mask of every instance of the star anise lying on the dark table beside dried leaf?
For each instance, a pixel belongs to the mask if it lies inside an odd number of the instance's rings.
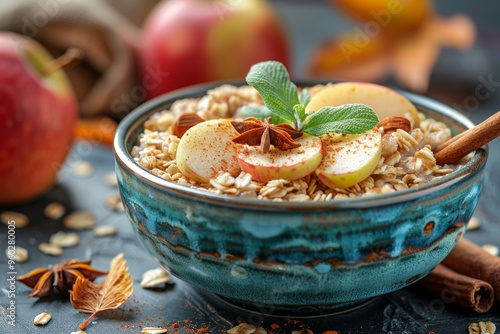
[[[90,266],[90,260],[69,260],[49,268],[38,268],[26,275],[19,276],[18,281],[33,290],[30,297],[45,297],[50,295],[52,289],[66,293],[72,289],[77,277],[87,278],[91,281],[108,272],[97,270]]]

